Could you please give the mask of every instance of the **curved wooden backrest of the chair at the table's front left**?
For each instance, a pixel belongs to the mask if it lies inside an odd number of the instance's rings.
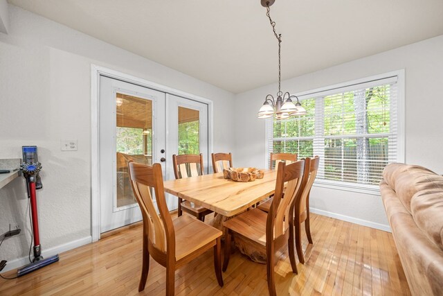
[[[162,253],[175,254],[174,225],[165,201],[161,165],[146,166],[129,161],[128,166],[132,190],[143,215],[143,231],[148,243]],[[154,207],[152,189],[160,215]]]

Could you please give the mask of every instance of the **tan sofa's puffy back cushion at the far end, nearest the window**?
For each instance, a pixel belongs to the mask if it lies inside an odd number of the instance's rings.
[[[412,214],[410,200],[417,191],[429,188],[428,176],[435,173],[423,166],[388,164],[383,170],[383,180],[397,193],[404,207]],[[440,188],[443,188],[443,183]]]

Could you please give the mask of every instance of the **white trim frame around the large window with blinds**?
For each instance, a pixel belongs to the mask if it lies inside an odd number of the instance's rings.
[[[318,96],[316,98],[316,106],[318,102],[321,101],[320,96],[328,96],[329,94],[345,92],[346,89],[355,87],[356,85],[364,85],[368,82],[374,82],[377,80],[384,80],[386,78],[397,77],[397,158],[395,162],[405,162],[405,70],[400,69],[397,71],[391,71],[388,73],[381,73],[375,76],[369,76],[365,78],[359,78],[356,80],[350,80],[347,82],[341,82],[336,85],[328,85],[325,87],[319,87],[316,89],[311,89],[305,92],[296,93],[296,96],[303,101],[307,98],[312,98],[313,96]],[[318,119],[321,118],[319,114],[315,114],[315,125],[318,125]],[[271,146],[269,141],[273,141],[273,118],[265,119],[265,164],[269,163],[269,153]],[[323,121],[320,122],[323,126]],[[347,136],[344,136],[347,137]],[[303,137],[296,137],[297,139],[302,139]],[[314,141],[316,137],[305,137],[313,138]],[[291,138],[285,138],[285,140],[290,140]],[[352,182],[343,182],[335,180],[323,180],[316,179],[314,186],[351,191],[356,193],[366,193],[370,195],[380,195],[379,186],[374,184],[358,184]]]

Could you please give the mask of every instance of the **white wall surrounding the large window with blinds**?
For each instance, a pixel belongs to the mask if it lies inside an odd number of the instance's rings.
[[[406,69],[406,163],[426,166],[442,174],[443,35],[284,80],[282,91],[304,92],[398,69]],[[235,122],[242,122],[242,128],[235,130],[236,166],[267,166],[264,121],[256,118],[256,112],[266,94],[276,92],[277,85],[273,84],[236,96]],[[381,198],[377,195],[316,187],[312,189],[310,205],[323,214],[333,213],[381,229],[388,226]]]

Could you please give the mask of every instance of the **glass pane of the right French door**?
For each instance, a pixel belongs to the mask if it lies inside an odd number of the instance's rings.
[[[199,113],[179,106],[179,154],[200,153]]]

